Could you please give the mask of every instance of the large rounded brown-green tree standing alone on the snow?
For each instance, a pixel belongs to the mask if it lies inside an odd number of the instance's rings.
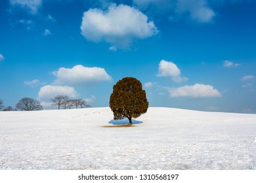
[[[148,100],[141,82],[132,77],[119,80],[110,95],[110,108],[114,120],[128,118],[129,124],[133,124],[131,118],[138,118],[148,110]]]

